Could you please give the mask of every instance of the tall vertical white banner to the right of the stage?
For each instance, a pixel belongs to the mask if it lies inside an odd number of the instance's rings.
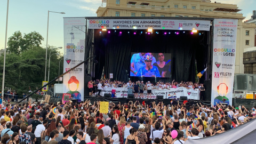
[[[212,103],[232,105],[236,33],[235,19],[214,19],[213,63],[212,63]]]

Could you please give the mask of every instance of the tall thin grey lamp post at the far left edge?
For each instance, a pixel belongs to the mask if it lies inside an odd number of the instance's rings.
[[[9,12],[9,0],[7,0],[7,13],[6,13],[6,27],[5,27],[5,43],[4,43],[4,68],[2,79],[2,101],[4,101],[4,78],[5,78],[5,58],[6,58],[6,44],[7,44],[7,28],[8,28],[8,12]]]

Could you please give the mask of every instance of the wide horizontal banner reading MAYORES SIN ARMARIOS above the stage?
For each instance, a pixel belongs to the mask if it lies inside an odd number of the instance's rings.
[[[166,30],[205,30],[209,31],[209,20],[163,20],[163,19],[93,19],[89,29],[166,29]]]

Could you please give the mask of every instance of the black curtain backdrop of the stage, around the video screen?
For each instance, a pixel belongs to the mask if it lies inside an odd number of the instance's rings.
[[[207,31],[198,31],[194,35],[190,34],[191,31],[179,31],[177,35],[174,30],[167,31],[166,35],[164,30],[158,30],[158,34],[154,30],[150,35],[145,34],[145,30],[136,30],[136,35],[133,34],[134,30],[110,30],[110,34],[108,31],[100,34],[100,31],[101,29],[94,31],[94,54],[98,61],[94,78],[101,78],[104,68],[106,78],[109,78],[109,73],[113,73],[114,80],[122,82],[129,81],[129,78],[131,81],[158,82],[161,79],[171,82],[175,79],[177,82],[195,82],[196,61],[198,73],[206,66]],[[122,31],[122,34],[119,34],[119,31]],[[171,53],[171,77],[130,77],[131,52]],[[204,80],[204,77],[201,79]]]

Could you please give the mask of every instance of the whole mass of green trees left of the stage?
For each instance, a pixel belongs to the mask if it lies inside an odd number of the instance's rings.
[[[14,90],[18,95],[29,94],[28,91],[35,91],[42,86],[45,75],[45,49],[40,47],[44,38],[37,32],[25,34],[23,37],[20,31],[16,31],[9,38],[8,45],[10,53],[6,54],[5,63],[5,87]],[[58,53],[53,46],[47,50],[47,71],[49,54]],[[63,58],[60,55],[52,55],[50,63],[50,81],[58,76],[59,61]],[[0,71],[3,71],[4,57],[0,57]],[[63,61],[60,64],[60,73],[63,71]],[[62,73],[61,73],[62,74]],[[2,82],[3,74],[0,73]],[[47,78],[46,78],[47,79]],[[47,80],[46,80],[47,81]],[[2,83],[0,84],[2,87]],[[33,99],[41,99],[42,95],[33,94]]]

